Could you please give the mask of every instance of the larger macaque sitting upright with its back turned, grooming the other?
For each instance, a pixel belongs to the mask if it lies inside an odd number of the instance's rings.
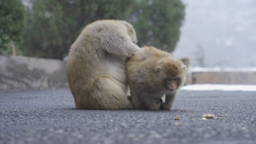
[[[82,30],[66,65],[76,108],[131,108],[125,62],[140,49],[136,42],[136,32],[126,21],[95,21]]]

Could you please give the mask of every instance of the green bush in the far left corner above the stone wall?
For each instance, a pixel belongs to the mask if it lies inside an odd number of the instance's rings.
[[[0,0],[0,53],[21,41],[25,10],[21,0]]]

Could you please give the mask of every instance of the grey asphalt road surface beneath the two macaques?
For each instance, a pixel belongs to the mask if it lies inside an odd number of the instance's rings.
[[[0,144],[133,143],[256,144],[256,92],[181,91],[172,111],[79,110],[68,88],[0,93]]]

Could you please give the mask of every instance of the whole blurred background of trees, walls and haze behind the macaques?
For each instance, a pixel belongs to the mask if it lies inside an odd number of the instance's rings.
[[[68,50],[100,19],[183,59],[186,84],[256,85],[256,0],[0,0],[0,91],[67,85]]]

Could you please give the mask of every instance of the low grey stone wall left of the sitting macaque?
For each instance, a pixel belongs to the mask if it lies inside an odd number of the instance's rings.
[[[68,86],[65,62],[0,55],[0,92]]]

